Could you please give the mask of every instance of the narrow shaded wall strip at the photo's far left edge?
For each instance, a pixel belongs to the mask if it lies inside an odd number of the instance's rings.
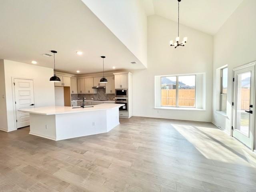
[[[0,130],[7,131],[6,94],[4,84],[4,60],[0,60]]]

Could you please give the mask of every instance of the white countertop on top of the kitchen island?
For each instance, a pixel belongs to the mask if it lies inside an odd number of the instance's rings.
[[[97,110],[108,110],[113,108],[119,108],[124,106],[124,104],[98,104],[94,105],[94,107],[87,108],[72,108],[66,106],[46,106],[46,107],[36,107],[30,109],[23,109],[19,111],[29,112],[32,114],[41,114],[41,115],[56,115],[56,114],[68,114],[68,113],[80,113],[80,112],[90,112]]]

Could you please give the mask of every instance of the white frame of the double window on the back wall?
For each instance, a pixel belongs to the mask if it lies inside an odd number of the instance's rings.
[[[194,106],[179,106],[179,77],[181,76],[195,76],[195,101]],[[176,77],[176,106],[162,106],[162,78],[163,77]],[[160,78],[160,89],[161,89],[161,96],[160,96],[160,106],[161,107],[170,107],[170,108],[196,108],[196,74],[184,74],[184,75],[168,75],[168,76],[161,76]]]

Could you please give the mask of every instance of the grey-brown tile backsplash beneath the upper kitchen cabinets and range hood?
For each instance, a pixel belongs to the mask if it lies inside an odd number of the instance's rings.
[[[82,100],[83,97],[86,100],[114,100],[115,94],[106,94],[106,89],[98,88],[96,94],[71,94],[71,100]],[[79,98],[79,99],[78,99]]]

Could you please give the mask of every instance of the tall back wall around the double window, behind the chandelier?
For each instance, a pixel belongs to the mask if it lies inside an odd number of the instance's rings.
[[[185,120],[212,120],[213,37],[180,25],[185,47],[174,50],[169,41],[177,36],[177,23],[160,16],[148,16],[148,68],[133,71],[133,114]],[[154,76],[206,73],[206,110],[154,109]]]

